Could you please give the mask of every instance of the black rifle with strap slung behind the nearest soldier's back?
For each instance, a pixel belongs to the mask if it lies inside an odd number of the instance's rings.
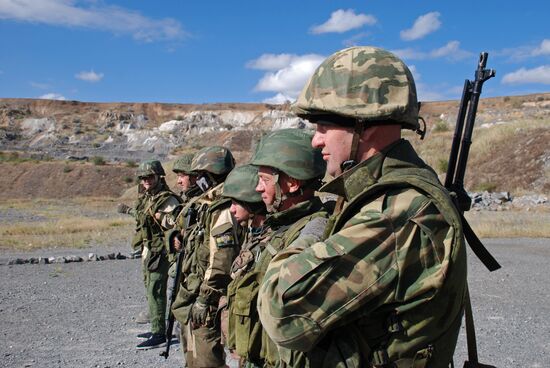
[[[474,130],[477,105],[479,103],[483,83],[495,76],[495,71],[493,69],[485,69],[487,57],[488,53],[486,52],[480,54],[479,63],[475,72],[475,80],[470,81],[466,79],[464,82],[464,89],[462,91],[462,98],[460,100],[455,133],[449,156],[449,167],[447,168],[447,174],[445,176],[445,188],[453,195],[452,198],[460,213],[464,237],[468,245],[485,267],[492,272],[498,270],[501,267],[500,264],[481,243],[481,240],[479,240],[464,217],[464,212],[468,211],[472,204],[470,196],[468,196],[468,193],[466,193],[464,189],[464,174],[466,172],[470,144],[472,143],[472,132]],[[474,319],[467,286],[464,297],[464,309],[466,339],[468,344],[468,360],[464,362],[464,368],[494,368],[490,365],[481,364],[478,361]]]

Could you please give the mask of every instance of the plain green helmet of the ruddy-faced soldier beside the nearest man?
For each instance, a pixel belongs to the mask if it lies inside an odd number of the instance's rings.
[[[281,129],[269,133],[258,145],[252,165],[269,166],[298,180],[325,174],[321,150],[311,146],[313,134],[303,129]]]

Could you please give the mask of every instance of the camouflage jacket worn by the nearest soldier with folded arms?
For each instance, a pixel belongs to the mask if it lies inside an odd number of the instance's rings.
[[[348,203],[325,241],[271,262],[258,301],[269,336],[311,366],[448,366],[466,252],[433,170],[399,140],[322,189]]]

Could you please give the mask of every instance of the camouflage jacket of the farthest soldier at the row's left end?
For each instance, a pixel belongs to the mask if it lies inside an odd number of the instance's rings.
[[[159,253],[164,247],[164,232],[171,229],[181,210],[181,199],[170,189],[159,184],[152,192],[143,193],[136,201],[136,233],[141,236],[144,247]],[[159,214],[160,218],[155,215]]]

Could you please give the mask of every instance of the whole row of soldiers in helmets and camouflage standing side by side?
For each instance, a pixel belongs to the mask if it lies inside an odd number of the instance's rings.
[[[181,252],[170,313],[189,367],[225,366],[224,346],[243,367],[448,366],[464,236],[448,192],[401,138],[420,131],[409,69],[379,48],[345,49],[292,108],[314,134],[267,134],[236,168],[223,147],[182,157],[181,197],[158,161],[139,166],[144,192],[120,207],[136,216],[143,246],[151,333],[138,348],[166,342],[168,274]]]

